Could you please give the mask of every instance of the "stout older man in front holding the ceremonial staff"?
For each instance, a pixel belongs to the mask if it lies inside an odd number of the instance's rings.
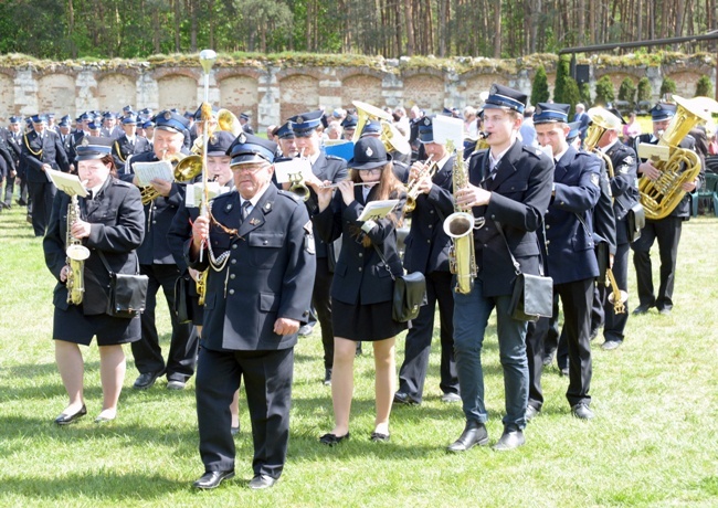
[[[210,271],[197,377],[200,489],[234,476],[229,405],[241,378],[254,441],[250,488],[272,487],[286,461],[294,346],[308,317],[315,257],[306,208],[272,184],[275,152],[272,141],[237,137],[237,192],[212,201],[211,223],[198,218],[186,246],[190,266]]]

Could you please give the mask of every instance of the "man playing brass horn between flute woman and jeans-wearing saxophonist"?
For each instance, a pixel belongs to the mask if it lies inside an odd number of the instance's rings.
[[[458,402],[458,377],[454,360],[454,296],[452,274],[448,271],[451,241],[444,232],[444,219],[454,211],[453,180],[455,156],[444,145],[434,141],[431,118],[424,118],[419,136],[430,162],[418,161],[411,168],[411,181],[418,193],[411,212],[411,229],[404,250],[406,272],[421,272],[426,277],[426,305],[423,305],[406,335],[404,362],[399,371],[399,391],[394,403],[420,404],[424,392],[431,341],[434,335],[434,314],[439,304],[441,319],[441,379],[442,401]],[[425,167],[435,165],[433,177]]]

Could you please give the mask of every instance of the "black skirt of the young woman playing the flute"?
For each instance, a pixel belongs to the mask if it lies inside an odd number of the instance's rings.
[[[406,329],[405,322],[391,318],[391,301],[349,305],[331,298],[331,322],[335,337],[357,341],[384,340]]]

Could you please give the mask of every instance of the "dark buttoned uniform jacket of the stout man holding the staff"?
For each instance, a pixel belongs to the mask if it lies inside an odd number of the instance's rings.
[[[292,348],[297,336],[274,332],[277,318],[306,322],[315,277],[312,222],[304,203],[289,192],[270,184],[247,218],[240,223],[237,192],[212,200],[213,218],[237,234],[212,224],[210,242],[214,256],[229,253],[217,272],[210,267],[204,303],[202,347],[217,351],[275,350]],[[192,268],[208,267],[184,255]]]

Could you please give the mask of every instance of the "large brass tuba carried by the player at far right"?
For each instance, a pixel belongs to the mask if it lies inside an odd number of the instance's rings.
[[[673,99],[678,105],[676,115],[658,140],[658,147],[668,148],[667,157],[658,154],[654,145],[638,145],[638,157],[651,159],[653,166],[661,171],[656,180],[645,177],[638,180],[641,204],[645,209],[646,219],[658,220],[668,216],[686,193],[682,186],[694,181],[700,172],[698,154],[680,148],[679,144],[696,124],[709,120],[710,114],[695,107],[696,103],[691,104],[677,95],[674,95]]]

